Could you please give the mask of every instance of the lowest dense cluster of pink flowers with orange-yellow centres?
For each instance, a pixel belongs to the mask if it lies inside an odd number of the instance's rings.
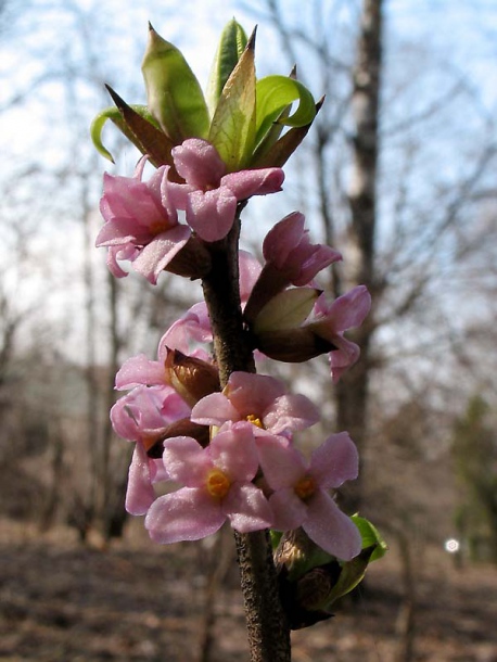
[[[153,364],[141,375],[156,382]],[[222,392],[190,408],[167,381],[164,369],[163,385],[135,386],[111,415],[116,432],[136,442],[127,509],[146,515],[154,540],[196,540],[229,520],[241,533],[302,526],[341,559],[360,551],[357,527],[329,494],[357,476],[354,443],[346,433],[331,435],[309,461],[293,443],[295,432],[319,420],[310,400],[288,394],[271,377],[233,372]],[[166,435],[184,419],[211,430],[207,446],[194,436]],[[156,440],[162,458],[146,453]],[[156,497],[154,484],[164,481],[167,493]]]

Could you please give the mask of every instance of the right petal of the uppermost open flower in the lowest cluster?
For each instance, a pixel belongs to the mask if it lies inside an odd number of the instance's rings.
[[[264,424],[272,434],[310,428],[320,419],[319,409],[305,395],[281,395],[264,415]]]

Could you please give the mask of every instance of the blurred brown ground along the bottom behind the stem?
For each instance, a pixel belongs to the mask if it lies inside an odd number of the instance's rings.
[[[197,660],[208,550],[157,547],[132,531],[132,539],[99,550],[77,545],[72,532],[40,537],[0,522],[0,659]],[[456,570],[434,550],[418,570],[412,662],[497,662],[497,569]],[[293,634],[294,661],[397,662],[399,577],[392,549],[371,566],[356,603]],[[247,660],[243,609],[230,577],[215,611],[211,662]]]

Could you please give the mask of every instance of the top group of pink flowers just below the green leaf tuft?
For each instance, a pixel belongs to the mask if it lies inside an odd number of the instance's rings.
[[[206,242],[222,239],[240,201],[280,191],[284,179],[281,168],[227,175],[215,148],[200,138],[174,148],[173,157],[183,183],[169,181],[169,166],[160,167],[143,182],[145,158],[133,177],[105,174],[100,211],[106,222],[97,246],[109,249],[107,265],[117,278],[126,276],[117,260],[128,259],[155,284],[192,231]],[[184,212],[187,225],[179,222],[178,212]]]

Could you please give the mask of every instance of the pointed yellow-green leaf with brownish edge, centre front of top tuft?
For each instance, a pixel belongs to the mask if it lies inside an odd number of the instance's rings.
[[[255,31],[222,88],[208,140],[228,171],[247,167],[255,140]]]

